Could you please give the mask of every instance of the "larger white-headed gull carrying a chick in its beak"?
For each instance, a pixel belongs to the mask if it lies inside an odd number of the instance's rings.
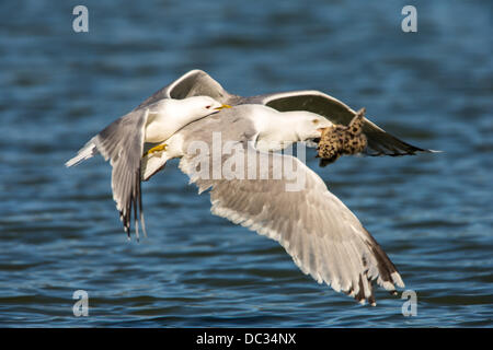
[[[142,179],[169,160],[180,159],[180,170],[198,192],[209,190],[213,214],[277,241],[319,283],[376,305],[374,282],[391,293],[404,287],[395,266],[313,171],[299,159],[276,152],[319,139],[333,126],[306,110],[238,105],[188,124],[165,141],[165,150],[146,154]],[[225,145],[215,153],[218,137],[222,144],[230,143],[231,152],[220,151]],[[279,174],[280,168],[295,171]],[[217,170],[219,175],[214,175]],[[289,187],[295,183],[302,186]]]

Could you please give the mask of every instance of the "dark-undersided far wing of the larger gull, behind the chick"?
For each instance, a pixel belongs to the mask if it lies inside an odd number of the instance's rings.
[[[260,103],[274,109],[309,110],[326,117],[334,124],[347,126],[356,112],[341,101],[320,91],[291,91],[260,95],[249,98],[250,103]],[[365,118],[363,132],[368,140],[366,154],[368,155],[406,155],[416,152],[431,152],[426,149],[409,144],[379,128]]]

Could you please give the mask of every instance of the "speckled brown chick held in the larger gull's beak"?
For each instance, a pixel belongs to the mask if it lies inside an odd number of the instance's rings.
[[[320,166],[335,162],[343,154],[356,154],[365,150],[366,136],[363,133],[365,108],[359,109],[349,125],[334,125],[322,130],[317,158]]]

